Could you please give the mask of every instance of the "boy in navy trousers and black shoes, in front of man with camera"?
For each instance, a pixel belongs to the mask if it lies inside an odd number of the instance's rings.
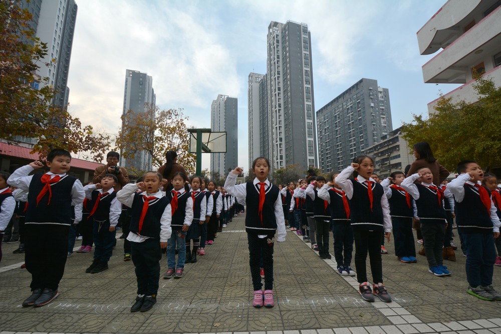
[[[105,174],[99,183],[84,187],[86,198],[91,200],[89,219],[94,220],[92,238],[95,245],[94,261],[85,270],[87,273],[95,274],[108,269],[116,240],[115,228],[122,213],[122,206],[114,189],[117,182],[118,178],[114,174]]]

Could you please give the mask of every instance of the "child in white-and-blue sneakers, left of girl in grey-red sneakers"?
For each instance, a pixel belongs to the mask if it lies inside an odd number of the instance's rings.
[[[331,180],[318,191],[318,197],[329,203],[338,273],[342,276],[355,276],[356,272],[351,268],[353,228],[350,224],[350,201],[334,181],[338,175],[339,173],[332,174]]]

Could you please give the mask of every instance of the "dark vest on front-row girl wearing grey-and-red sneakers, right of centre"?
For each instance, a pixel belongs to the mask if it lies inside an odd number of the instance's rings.
[[[372,182],[372,211],[367,185],[351,179],[353,184],[352,205],[355,206],[350,211],[350,219],[353,230],[383,231],[383,208],[381,207],[381,197],[384,196],[383,187]],[[356,204],[354,204],[356,203]]]

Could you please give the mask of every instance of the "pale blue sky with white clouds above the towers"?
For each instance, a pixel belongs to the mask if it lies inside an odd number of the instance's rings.
[[[424,84],[417,31],[445,0],[76,0],[69,111],[118,134],[126,69],[153,77],[161,109],[182,108],[210,127],[218,94],[238,99],[238,165],[248,169],[247,81],[266,73],[271,21],[311,31],[315,109],[361,78],[388,88],[393,128],[427,114],[427,103],[457,85]],[[210,158],[203,154],[202,168]]]

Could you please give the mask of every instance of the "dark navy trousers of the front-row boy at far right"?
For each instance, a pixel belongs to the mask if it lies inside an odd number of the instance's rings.
[[[471,287],[492,284],[496,251],[492,233],[462,233],[466,246],[466,279]]]

